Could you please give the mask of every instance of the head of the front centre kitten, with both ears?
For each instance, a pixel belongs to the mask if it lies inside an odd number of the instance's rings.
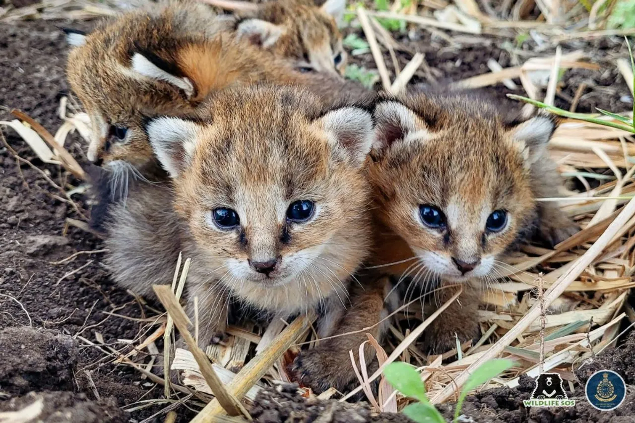
[[[251,88],[217,95],[200,123],[150,122],[177,210],[222,283],[335,288],[362,260],[370,114],[316,108],[302,91]]]

